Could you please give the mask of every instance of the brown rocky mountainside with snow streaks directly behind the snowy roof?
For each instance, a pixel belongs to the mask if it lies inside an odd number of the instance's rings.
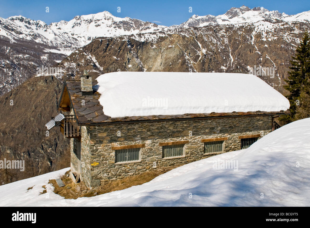
[[[121,71],[229,72],[256,75],[285,94],[291,56],[309,25],[302,22],[214,25],[173,34],[97,38],[59,66],[69,77]]]

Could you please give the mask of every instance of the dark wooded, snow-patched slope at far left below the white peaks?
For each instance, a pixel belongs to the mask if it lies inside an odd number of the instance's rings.
[[[66,57],[56,52],[60,51],[42,43],[0,38],[0,96],[32,78],[37,67],[55,65]]]

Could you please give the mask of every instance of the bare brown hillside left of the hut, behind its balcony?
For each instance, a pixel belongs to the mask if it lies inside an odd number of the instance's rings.
[[[0,185],[70,166],[69,140],[44,126],[57,114],[62,83],[34,77],[0,97],[0,160],[24,160],[25,170],[0,169]],[[31,187],[31,186],[29,186]]]

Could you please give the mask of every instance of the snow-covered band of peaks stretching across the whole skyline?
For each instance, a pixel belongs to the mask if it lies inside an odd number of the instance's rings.
[[[23,16],[11,16],[7,19],[0,18],[0,36],[34,40],[60,47],[63,51],[68,51],[86,45],[95,37],[166,32],[169,29],[175,28],[183,29],[210,25],[237,25],[264,20],[269,22],[310,21],[310,11],[288,16],[278,11],[268,11],[263,7],[255,7],[253,9],[246,6],[240,8],[233,7],[223,15],[193,15],[181,25],[172,25],[170,27],[129,17],[119,18],[113,16],[108,11],[75,16],[70,21],[62,20],[50,25],[41,20],[31,20]]]

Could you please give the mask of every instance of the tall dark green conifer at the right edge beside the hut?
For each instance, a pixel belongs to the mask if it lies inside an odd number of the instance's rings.
[[[304,85],[310,74],[310,38],[308,32],[305,32],[299,47],[296,49],[296,56],[292,56],[290,60],[292,66],[290,67],[289,77],[286,81],[287,85],[284,88],[290,92],[286,98],[290,101],[290,115],[282,116],[279,120],[284,123],[290,123],[296,120],[296,110],[300,104],[301,91],[305,91]],[[305,95],[305,94],[304,94]]]

